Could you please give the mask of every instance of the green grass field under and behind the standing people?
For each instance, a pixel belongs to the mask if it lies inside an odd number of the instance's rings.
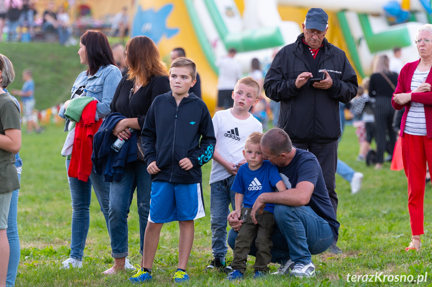
[[[17,79],[10,86],[21,88],[21,73],[31,68],[36,82],[37,109],[45,109],[69,98],[71,86],[84,70],[77,55],[78,47],[63,47],[56,43],[0,43],[0,52],[14,63]],[[25,128],[24,128],[25,130]],[[51,124],[42,134],[23,133],[21,156],[24,159],[22,189],[19,200],[19,228],[21,238],[21,263],[17,287],[66,287],[66,286],[131,286],[124,272],[117,276],[105,276],[101,272],[114,261],[110,256],[110,240],[105,221],[93,196],[91,223],[85,250],[84,268],[60,271],[61,262],[68,258],[71,238],[71,198],[66,177],[65,159],[60,155],[66,134],[62,124]],[[403,171],[389,170],[389,163],[382,170],[366,167],[356,162],[358,143],[354,129],[347,126],[339,145],[339,158],[364,174],[362,190],[351,195],[349,183],[336,176],[339,197],[338,246],[344,254],[334,256],[324,253],[313,256],[317,274],[314,279],[292,279],[267,276],[254,281],[250,258],[245,279],[238,283],[224,280],[219,273],[205,273],[204,267],[211,255],[211,231],[208,179],[210,164],[203,168],[205,218],[195,222],[195,241],[189,261],[190,286],[402,286],[395,282],[417,280],[423,276],[421,286],[432,285],[430,245],[430,209],[432,189],[425,192],[425,235],[420,253],[404,251],[410,241],[407,212],[406,179]],[[154,280],[150,286],[173,286],[172,276],[177,266],[178,224],[166,224],[154,264]],[[139,226],[136,201],[129,215],[129,253],[132,264],[138,264]],[[232,259],[232,251],[228,251]],[[270,265],[274,272],[278,266]],[[381,274],[382,273],[382,274]],[[381,277],[370,278],[375,274]],[[427,277],[424,278],[427,274]],[[361,276],[360,282],[352,282]],[[384,276],[386,279],[384,280]],[[366,278],[367,277],[367,278]],[[412,277],[412,278],[411,278]],[[396,279],[397,278],[397,279]],[[372,280],[373,282],[363,282]],[[376,281],[376,282],[375,282]],[[380,282],[384,281],[384,282]],[[391,282],[390,282],[391,281]],[[414,284],[416,284],[415,282]]]

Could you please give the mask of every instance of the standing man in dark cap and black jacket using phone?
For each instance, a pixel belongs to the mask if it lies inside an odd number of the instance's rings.
[[[357,76],[345,52],[325,38],[328,15],[323,9],[309,9],[302,30],[294,43],[274,57],[264,90],[267,97],[280,102],[278,127],[289,135],[295,148],[308,150],[318,159],[333,207],[328,212],[334,212],[335,217],[339,102],[355,97]],[[337,230],[333,237],[329,251],[341,253],[336,247]]]

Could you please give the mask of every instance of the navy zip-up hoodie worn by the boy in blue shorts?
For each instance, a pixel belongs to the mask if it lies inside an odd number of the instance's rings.
[[[173,183],[202,182],[201,166],[213,156],[216,138],[206,104],[194,93],[177,103],[169,91],[155,98],[142,130],[147,165],[156,161],[161,170],[152,180]],[[179,161],[189,158],[193,168],[185,171]]]

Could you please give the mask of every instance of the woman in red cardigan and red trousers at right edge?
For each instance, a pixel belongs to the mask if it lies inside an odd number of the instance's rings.
[[[391,105],[405,107],[400,124],[402,159],[408,179],[411,242],[405,248],[419,251],[423,231],[423,198],[426,161],[432,166],[432,24],[424,24],[415,39],[420,58],[400,71]]]

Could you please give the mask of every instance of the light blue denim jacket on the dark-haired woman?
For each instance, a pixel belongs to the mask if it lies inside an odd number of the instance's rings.
[[[111,101],[117,85],[122,79],[122,73],[114,65],[101,66],[93,76],[88,76],[87,71],[81,72],[71,90],[71,98],[81,87],[86,86],[86,96],[93,97],[99,101],[96,108],[96,118],[105,117],[111,112]],[[62,106],[59,115],[64,118],[64,107]]]

